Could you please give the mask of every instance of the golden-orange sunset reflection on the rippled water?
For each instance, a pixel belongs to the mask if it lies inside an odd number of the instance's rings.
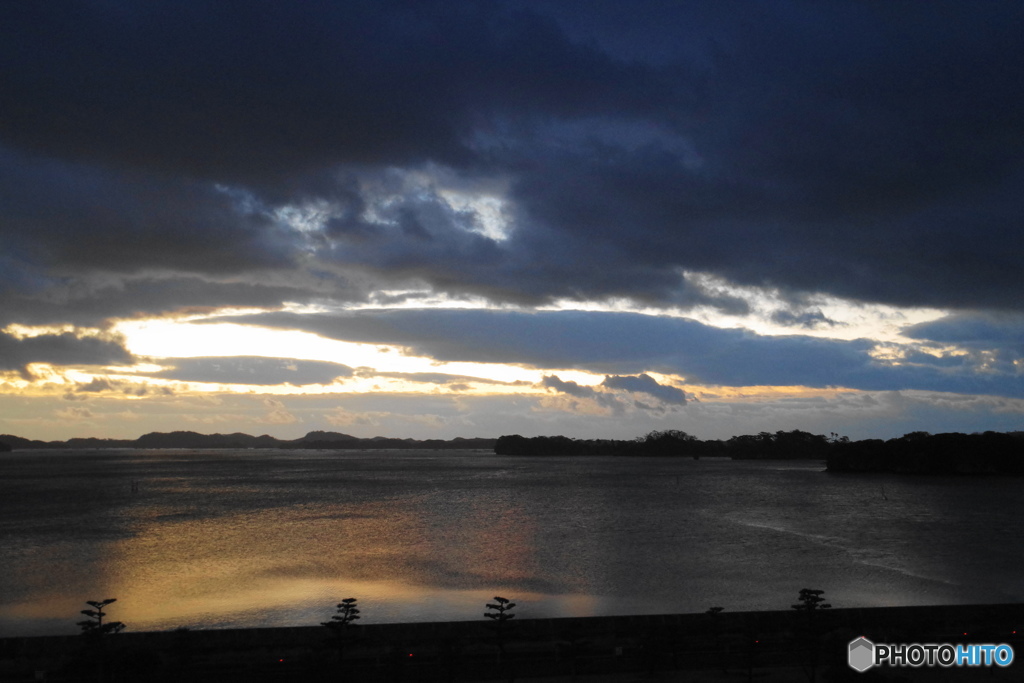
[[[138,630],[248,623],[308,625],[357,597],[399,603],[410,618],[482,616],[493,586],[538,575],[536,520],[502,500],[438,506],[423,496],[187,518],[167,505],[126,510],[130,537],[103,544],[95,570],[112,618]],[[177,518],[176,518],[177,517]],[[587,600],[515,589],[519,601],[554,597],[570,613]],[[85,598],[83,598],[85,599]],[[62,596],[36,596],[18,616],[53,615]],[[419,609],[417,607],[419,606]],[[67,607],[65,606],[65,609]],[[59,612],[57,612],[59,613]]]

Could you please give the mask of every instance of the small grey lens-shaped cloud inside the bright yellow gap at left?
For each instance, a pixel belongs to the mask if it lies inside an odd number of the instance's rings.
[[[151,377],[182,382],[219,384],[330,384],[340,377],[351,377],[352,369],[337,362],[265,358],[257,356],[177,358],[174,368]]]

